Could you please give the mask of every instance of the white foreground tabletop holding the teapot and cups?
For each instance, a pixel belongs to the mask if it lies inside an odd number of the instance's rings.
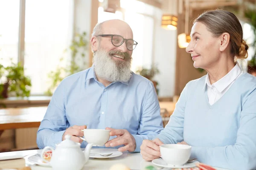
[[[28,160],[29,156],[33,156],[37,153],[41,154],[42,150],[22,150],[0,153],[0,158],[8,156],[23,156],[26,160],[26,166],[29,166],[32,170],[52,170],[51,167],[44,167],[34,164]],[[54,153],[53,153],[54,154]],[[157,170],[172,170],[171,168],[158,167],[152,164],[151,161],[145,161],[140,153],[130,153],[128,151],[123,152],[121,156],[108,159],[95,159],[90,158],[84,165],[82,170],[109,170],[114,164],[124,164],[131,170],[145,170],[145,167],[154,166]],[[215,167],[216,170],[227,170]]]

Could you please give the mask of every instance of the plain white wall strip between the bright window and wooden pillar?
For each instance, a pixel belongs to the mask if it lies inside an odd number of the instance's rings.
[[[154,63],[157,64],[160,74],[154,79],[159,83],[158,96],[170,97],[174,95],[175,90],[177,31],[161,27],[162,12],[160,10],[157,10],[155,16]]]

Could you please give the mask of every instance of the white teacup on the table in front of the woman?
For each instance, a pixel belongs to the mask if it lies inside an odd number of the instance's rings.
[[[183,165],[191,155],[191,146],[185,144],[163,144],[160,146],[161,157],[168,165]]]

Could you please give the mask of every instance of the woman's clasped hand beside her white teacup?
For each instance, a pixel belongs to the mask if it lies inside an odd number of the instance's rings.
[[[163,142],[158,138],[152,141],[147,139],[143,140],[142,145],[140,146],[142,158],[146,161],[152,161],[153,159],[159,158],[161,156],[159,146],[162,144]]]

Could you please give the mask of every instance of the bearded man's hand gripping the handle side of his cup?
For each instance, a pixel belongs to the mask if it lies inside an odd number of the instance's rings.
[[[67,128],[67,130],[62,135],[62,141],[65,139],[65,135],[70,135],[71,140],[73,140],[74,142],[82,143],[83,140],[80,139],[78,136],[84,136],[84,132],[81,131],[83,129],[86,129],[86,125],[83,125],[83,126],[74,125],[72,127]]]

